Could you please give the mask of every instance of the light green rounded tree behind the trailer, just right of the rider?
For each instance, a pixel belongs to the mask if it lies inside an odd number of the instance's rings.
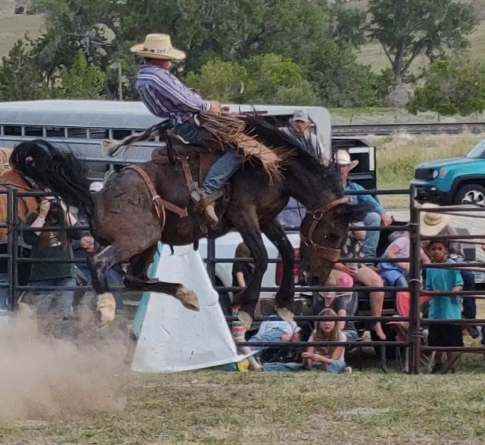
[[[209,99],[232,103],[313,104],[316,97],[301,68],[277,54],[248,60],[207,62],[187,83]]]

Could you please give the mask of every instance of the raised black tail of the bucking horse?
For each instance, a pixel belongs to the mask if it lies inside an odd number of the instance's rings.
[[[74,154],[38,139],[18,144],[10,156],[10,165],[39,186],[48,188],[68,207],[85,211],[91,220],[95,205],[89,192],[88,169]]]

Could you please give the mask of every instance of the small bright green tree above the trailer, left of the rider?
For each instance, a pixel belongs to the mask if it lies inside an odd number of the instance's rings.
[[[56,98],[99,99],[105,80],[106,74],[97,66],[88,64],[85,55],[79,52],[72,66],[60,69],[54,94]]]

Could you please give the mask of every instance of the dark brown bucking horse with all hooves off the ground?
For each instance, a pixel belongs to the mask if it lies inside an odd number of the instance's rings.
[[[307,208],[300,229],[300,279],[310,285],[327,279],[339,259],[349,224],[362,220],[366,207],[352,204],[344,196],[334,164],[322,165],[298,141],[258,116],[242,119],[248,133],[266,147],[278,150],[285,162],[276,179],[269,178],[261,164],[244,162],[227,185],[225,196],[216,202],[219,223],[215,227],[204,223],[190,199],[193,183],[196,179],[200,183],[215,161],[214,152],[184,145],[170,136],[170,131],[166,147],[155,150],[151,161],[125,167],[94,195],[89,192],[85,164],[73,153],[45,140],[22,142],[14,148],[10,164],[15,171],[88,215],[92,236],[99,246],[88,257],[88,265],[101,322],[108,323],[115,317],[115,302],[105,273],[122,262],[130,264],[124,277],[126,288],[172,295],[185,307],[198,310],[196,295],[181,283],[147,277],[157,243],[196,244],[202,237],[216,239],[231,230],[241,234],[255,264],[252,278],[233,302],[239,307],[242,323],[249,327],[252,322],[268,265],[262,234],[275,244],[283,263],[276,311],[283,319],[292,319],[295,259],[292,245],[276,219],[290,197]],[[164,125],[157,128],[160,134],[167,130]],[[145,137],[152,130],[146,130]]]

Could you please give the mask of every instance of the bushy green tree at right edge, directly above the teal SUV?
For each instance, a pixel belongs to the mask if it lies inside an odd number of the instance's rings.
[[[471,60],[436,60],[407,109],[441,115],[468,116],[485,111],[485,64]]]

